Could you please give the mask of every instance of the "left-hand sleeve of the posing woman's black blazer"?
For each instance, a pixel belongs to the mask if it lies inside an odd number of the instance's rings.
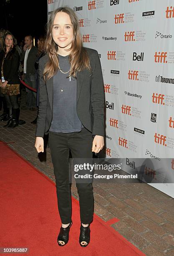
[[[42,59],[39,60],[38,67],[38,87],[39,87],[39,105],[38,105],[38,118],[36,126],[36,137],[42,137],[45,133],[45,122],[46,122],[46,109],[47,109],[47,90],[46,83],[43,79],[44,63]]]

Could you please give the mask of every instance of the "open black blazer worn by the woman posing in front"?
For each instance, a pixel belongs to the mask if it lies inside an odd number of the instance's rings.
[[[104,87],[98,52],[86,48],[92,69],[77,72],[77,114],[92,135],[104,136]],[[35,136],[48,134],[53,118],[53,77],[43,79],[47,56],[39,60],[39,110]],[[65,106],[66,108],[66,106]]]

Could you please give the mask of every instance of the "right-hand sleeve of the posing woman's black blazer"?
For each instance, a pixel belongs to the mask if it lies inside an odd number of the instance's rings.
[[[93,111],[93,135],[104,137],[104,87],[101,63],[98,52],[95,50],[93,60],[95,64],[91,79],[91,107]]]

